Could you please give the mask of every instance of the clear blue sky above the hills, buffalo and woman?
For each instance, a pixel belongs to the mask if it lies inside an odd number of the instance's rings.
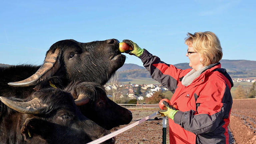
[[[190,1],[1,1],[0,63],[43,63],[63,39],[80,42],[130,39],[169,64],[189,62],[187,32],[212,31],[223,59],[256,61],[256,2]],[[126,54],[126,63],[142,66]]]

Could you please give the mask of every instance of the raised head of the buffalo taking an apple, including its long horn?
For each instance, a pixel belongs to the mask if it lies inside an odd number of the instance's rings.
[[[47,51],[43,65],[35,74],[8,84],[27,87],[51,77],[59,77],[63,82],[60,85],[64,87],[70,81],[77,80],[104,85],[125,62],[126,57],[118,51],[118,46],[116,39],[88,43],[58,41]]]

